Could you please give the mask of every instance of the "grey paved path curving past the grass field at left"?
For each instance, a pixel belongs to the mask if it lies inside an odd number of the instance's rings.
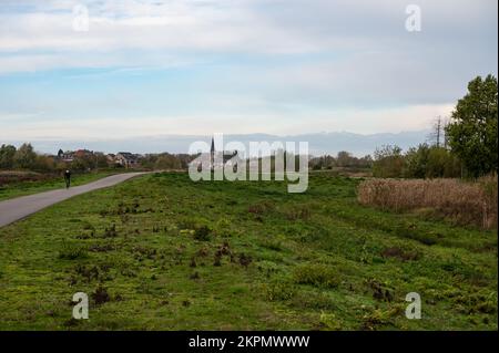
[[[110,187],[143,174],[147,173],[118,174],[85,185],[74,186],[69,189],[58,189],[0,201],[0,227],[7,226],[73,196]]]

